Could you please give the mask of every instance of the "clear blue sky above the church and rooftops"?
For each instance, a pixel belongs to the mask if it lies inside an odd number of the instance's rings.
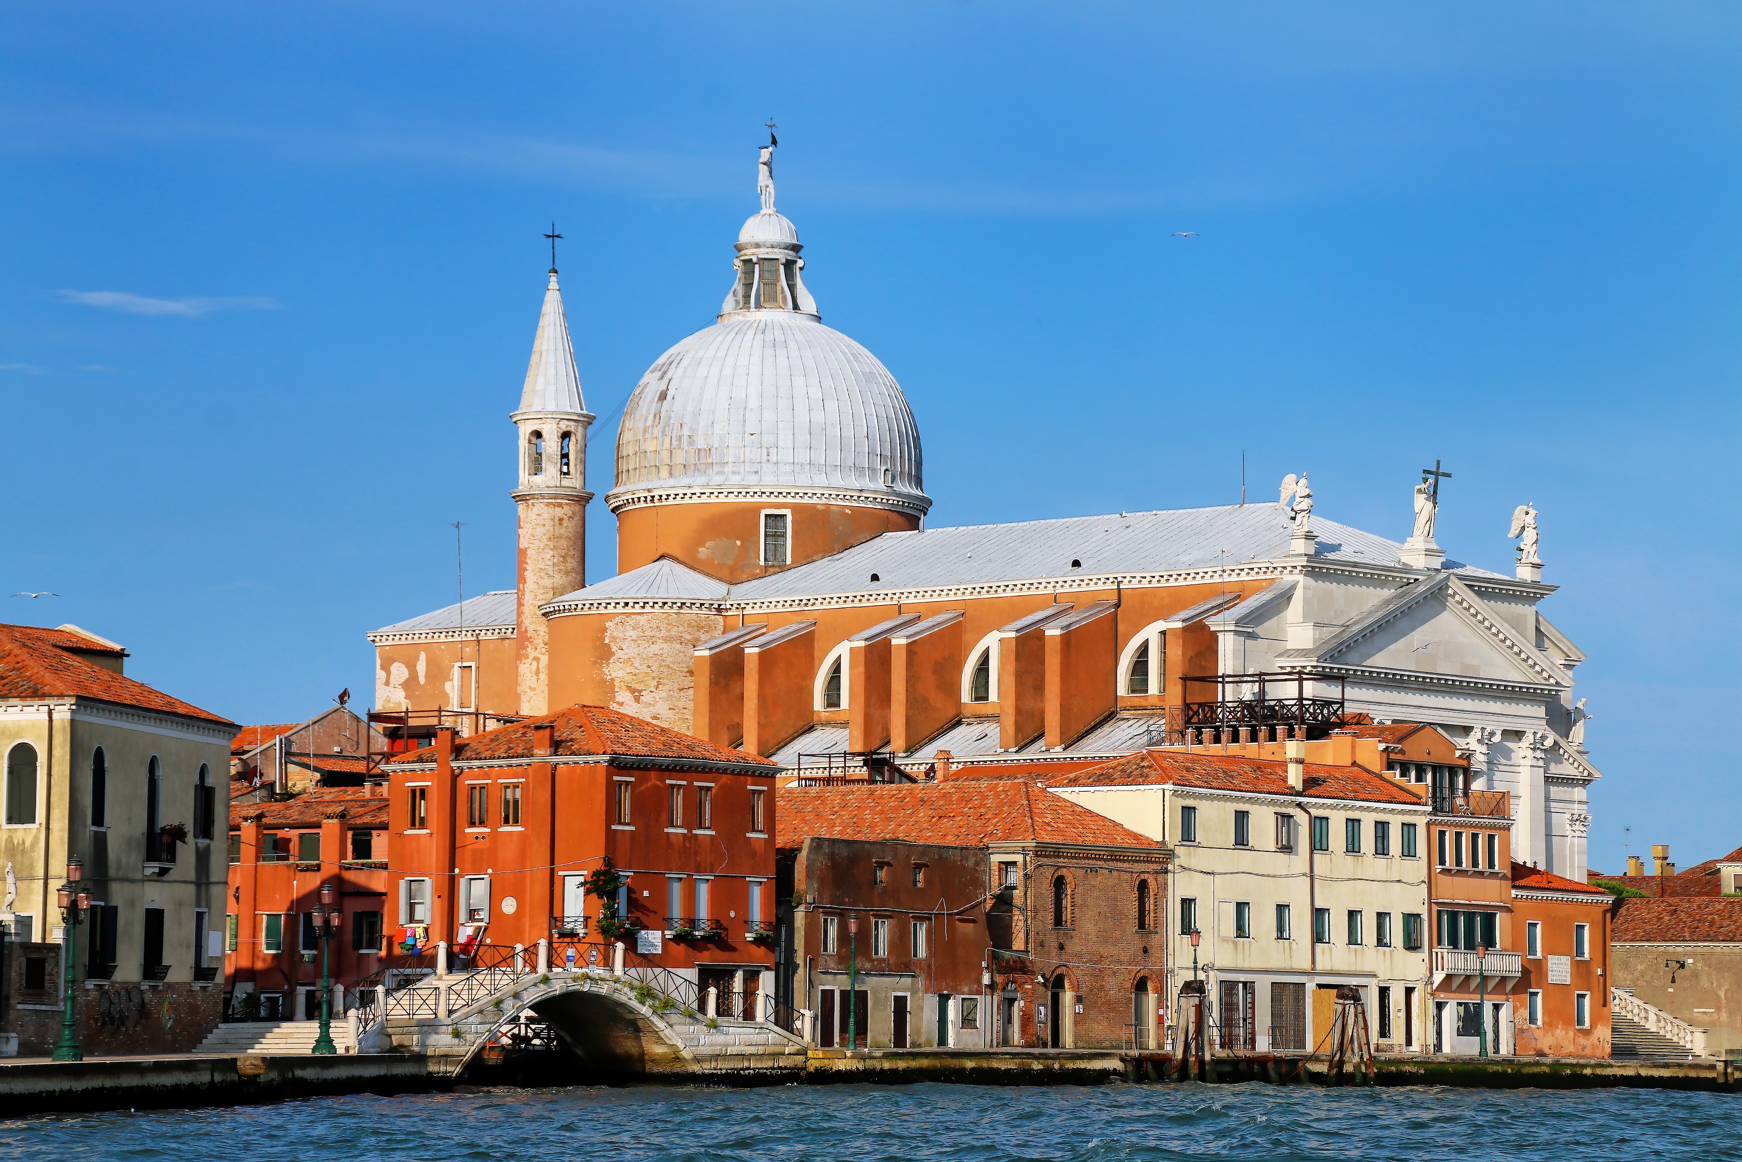
[[[514,570],[556,220],[589,483],[706,326],[780,125],[824,321],[902,383],[932,523],[1312,474],[1510,570],[1580,688],[1592,861],[1742,843],[1742,10],[1711,3],[12,5],[0,598],[239,721]],[[1176,230],[1200,237],[1172,239]],[[594,502],[589,577],[613,571]],[[1624,831],[1631,828],[1631,831]]]

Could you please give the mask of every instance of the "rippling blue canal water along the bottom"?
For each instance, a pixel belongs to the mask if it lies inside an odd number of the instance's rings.
[[[1742,1159],[1742,1096],[1275,1085],[490,1089],[42,1115],[0,1159],[514,1162]]]

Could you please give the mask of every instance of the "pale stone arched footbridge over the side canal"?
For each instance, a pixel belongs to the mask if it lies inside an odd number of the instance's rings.
[[[610,967],[552,969],[545,946],[537,958],[533,949],[502,949],[491,967],[437,970],[387,991],[362,1014],[359,1047],[427,1054],[432,1071],[453,1077],[530,1010],[603,1077],[801,1075],[805,1042],[770,1019],[766,996],[756,1007],[756,1021],[714,1016],[714,998],[693,983],[625,967],[622,951]]]

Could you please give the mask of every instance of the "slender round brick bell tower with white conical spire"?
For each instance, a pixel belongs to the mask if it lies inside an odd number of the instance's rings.
[[[552,226],[554,232],[554,226]],[[568,338],[556,249],[544,314],[512,416],[519,439],[519,551],[516,563],[516,686],[521,714],[549,713],[550,627],[538,606],[587,584],[587,425],[575,347]]]

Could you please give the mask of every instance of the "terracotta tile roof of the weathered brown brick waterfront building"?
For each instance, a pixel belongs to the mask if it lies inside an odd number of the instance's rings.
[[[775,845],[784,848],[814,836],[951,847],[1012,841],[1162,847],[1087,807],[1017,780],[780,787],[775,807]]]

